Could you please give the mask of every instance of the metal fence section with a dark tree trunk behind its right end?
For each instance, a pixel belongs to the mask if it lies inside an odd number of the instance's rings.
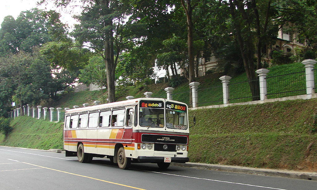
[[[230,103],[260,100],[259,79],[228,84]],[[251,92],[251,89],[253,92]]]

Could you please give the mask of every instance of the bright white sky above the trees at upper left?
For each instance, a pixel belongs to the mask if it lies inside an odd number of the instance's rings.
[[[61,21],[65,24],[68,24],[69,27],[73,27],[75,23],[78,22],[72,18],[74,14],[81,12],[79,6],[73,5],[68,6],[68,8],[56,8],[54,5],[54,0],[48,0],[48,3],[43,5],[37,5],[39,0],[0,0],[0,23],[3,22],[5,16],[11,15],[15,19],[20,14],[20,12],[25,10],[30,10],[32,8],[38,8],[43,10],[55,10],[56,12],[61,13]],[[1,28],[1,26],[0,26]]]

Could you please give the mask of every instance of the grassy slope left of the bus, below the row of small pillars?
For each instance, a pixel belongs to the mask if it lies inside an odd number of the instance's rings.
[[[33,148],[62,149],[63,124],[20,116],[10,122],[14,129],[7,139],[0,137],[0,145]]]

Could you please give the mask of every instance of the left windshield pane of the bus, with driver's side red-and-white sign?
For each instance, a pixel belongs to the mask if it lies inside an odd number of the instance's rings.
[[[145,127],[164,127],[164,102],[140,101],[139,124]]]

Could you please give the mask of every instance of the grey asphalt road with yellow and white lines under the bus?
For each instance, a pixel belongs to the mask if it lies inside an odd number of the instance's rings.
[[[80,163],[64,154],[0,146],[0,189],[94,190],[316,190],[317,181],[207,169],[132,163],[119,169],[106,158]]]

